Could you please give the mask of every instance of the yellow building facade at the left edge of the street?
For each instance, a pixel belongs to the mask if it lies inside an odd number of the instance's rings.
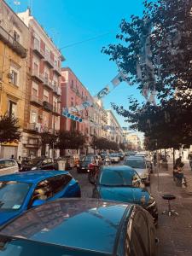
[[[24,137],[26,102],[26,65],[29,30],[25,23],[2,0],[0,1],[0,115],[9,113],[19,120],[20,141]],[[17,158],[22,144],[5,143],[0,157]]]

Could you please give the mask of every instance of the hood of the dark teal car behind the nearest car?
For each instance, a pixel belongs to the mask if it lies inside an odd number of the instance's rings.
[[[102,199],[131,202],[139,205],[148,205],[149,193],[147,189],[128,187],[97,187]]]

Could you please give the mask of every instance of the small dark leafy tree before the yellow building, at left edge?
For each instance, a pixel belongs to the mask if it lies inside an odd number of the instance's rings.
[[[19,139],[18,119],[13,115],[5,113],[0,117],[0,143],[18,142]]]

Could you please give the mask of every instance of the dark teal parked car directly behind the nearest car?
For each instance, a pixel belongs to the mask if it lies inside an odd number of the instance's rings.
[[[153,195],[148,193],[142,179],[129,166],[103,166],[93,189],[94,198],[123,201],[142,206],[158,222],[158,210]]]

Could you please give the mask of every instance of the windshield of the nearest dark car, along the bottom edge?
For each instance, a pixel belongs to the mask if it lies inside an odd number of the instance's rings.
[[[106,253],[97,253],[87,250],[79,250],[70,247],[61,247],[53,244],[40,243],[38,241],[26,241],[0,236],[1,256],[102,256]]]

